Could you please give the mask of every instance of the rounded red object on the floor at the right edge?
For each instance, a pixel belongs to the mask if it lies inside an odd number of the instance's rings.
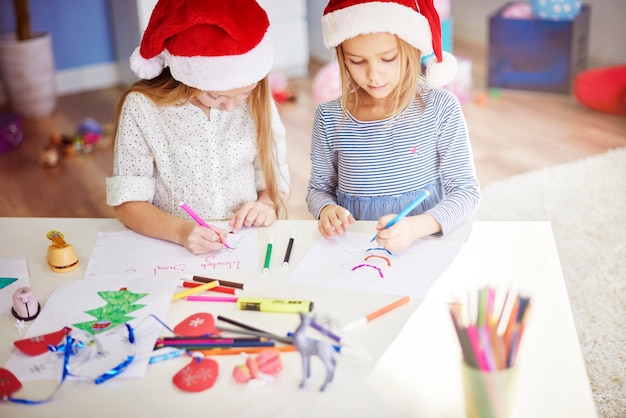
[[[583,71],[574,79],[572,90],[589,109],[626,115],[626,65]]]

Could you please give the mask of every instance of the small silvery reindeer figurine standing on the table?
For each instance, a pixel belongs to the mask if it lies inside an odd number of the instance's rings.
[[[311,325],[311,318],[305,313],[300,313],[300,325],[293,333],[293,345],[302,356],[302,381],[300,388],[303,388],[306,381],[311,377],[311,356],[318,356],[326,367],[326,380],[320,388],[320,392],[333,380],[335,374],[335,347],[330,342],[316,340],[305,335],[306,329]]]

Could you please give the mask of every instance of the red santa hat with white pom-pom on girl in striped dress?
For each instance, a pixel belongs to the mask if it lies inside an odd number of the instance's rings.
[[[393,33],[419,49],[426,61],[426,81],[442,87],[456,76],[456,58],[441,49],[441,22],[433,0],[330,0],[322,16],[326,48],[370,33]]]

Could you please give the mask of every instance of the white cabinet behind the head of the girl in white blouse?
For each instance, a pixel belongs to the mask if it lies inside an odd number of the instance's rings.
[[[309,40],[306,0],[258,0],[272,27],[276,58],[272,71],[298,78],[308,74]],[[137,81],[128,59],[141,41],[156,0],[111,0],[115,48],[122,83]]]

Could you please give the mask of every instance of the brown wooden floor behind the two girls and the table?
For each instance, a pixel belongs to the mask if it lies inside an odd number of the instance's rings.
[[[584,109],[572,96],[513,90],[489,94],[485,50],[459,41],[454,48],[455,55],[472,62],[473,98],[462,105],[483,187],[626,146],[626,118]],[[311,65],[311,77],[318,68]],[[290,88],[296,100],[280,106],[292,180],[289,217],[311,219],[304,202],[315,108],[311,78],[292,80]],[[111,124],[122,91],[110,88],[63,96],[52,116],[24,121],[23,143],[0,155],[0,216],[113,216],[105,203],[104,179],[111,175],[112,158],[108,140],[90,154],[62,157],[53,168],[43,168],[40,156],[52,133],[73,134],[84,118]]]

